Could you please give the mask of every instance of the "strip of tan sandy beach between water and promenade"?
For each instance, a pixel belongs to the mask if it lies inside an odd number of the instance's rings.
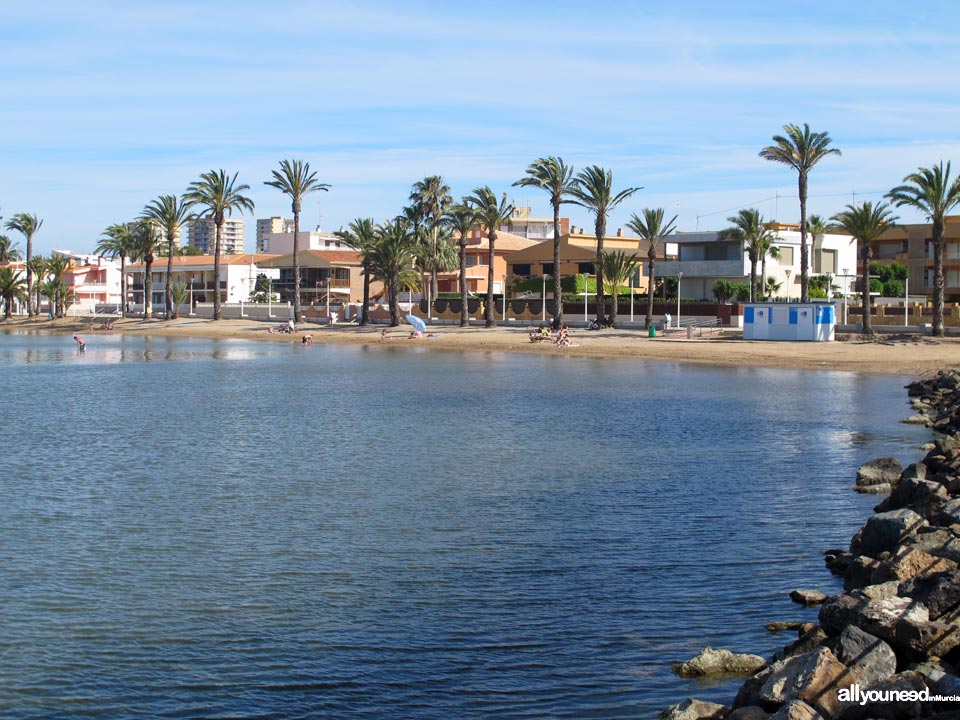
[[[173,321],[131,318],[118,321],[113,330],[91,329],[87,321],[7,320],[0,329],[10,331],[83,333],[87,344],[96,343],[98,335],[129,333],[171,337],[236,338],[266,342],[300,342],[301,335],[273,335],[271,324],[255,320],[220,320],[179,318]],[[96,326],[95,326],[96,327]],[[730,332],[713,338],[688,340],[685,334],[649,338],[638,330],[570,331],[573,347],[556,347],[552,343],[531,343],[528,327],[457,326],[431,327],[434,337],[409,339],[409,327],[389,329],[381,339],[385,326],[360,328],[356,325],[307,325],[305,332],[315,344],[377,344],[392,346],[424,346],[438,350],[481,350],[532,352],[569,357],[594,357],[632,360],[690,362],[721,366],[793,368],[804,370],[844,370],[850,372],[887,373],[919,377],[937,370],[960,365],[960,338],[931,338],[921,335],[880,336],[874,341],[851,338],[832,343],[757,342],[745,341]]]

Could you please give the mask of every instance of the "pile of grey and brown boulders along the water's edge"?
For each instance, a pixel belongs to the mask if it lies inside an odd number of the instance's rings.
[[[826,564],[844,591],[819,604],[817,623],[775,623],[797,640],[766,662],[706,648],[681,675],[750,675],[729,706],[688,699],[666,720],[960,720],[960,372],[907,386],[916,415],[934,429],[922,461],[860,468],[857,489],[889,493],[848,550]]]

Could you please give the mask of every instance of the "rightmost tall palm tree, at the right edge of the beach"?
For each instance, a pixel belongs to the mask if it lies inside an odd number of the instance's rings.
[[[932,168],[919,168],[887,193],[897,207],[904,205],[921,211],[933,223],[933,328],[932,334],[943,336],[943,223],[944,218],[960,204],[960,177],[950,182],[950,163],[941,160]]]

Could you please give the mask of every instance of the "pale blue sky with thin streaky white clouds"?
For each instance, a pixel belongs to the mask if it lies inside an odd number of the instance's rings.
[[[303,158],[332,185],[305,203],[307,227],[386,220],[432,174],[548,216],[545,193],[510,186],[559,155],[644,187],[611,229],[644,207],[719,229],[741,206],[797,221],[796,175],[757,156],[785,123],[843,152],[811,175],[821,214],[960,161],[960,6],[780,5],[10,0],[0,214],[44,219],[36,252],[92,251],[223,168],[250,185],[252,246],[254,217],[290,215],[263,181]]]

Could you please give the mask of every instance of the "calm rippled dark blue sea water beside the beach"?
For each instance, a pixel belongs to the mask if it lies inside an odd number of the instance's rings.
[[[919,457],[904,378],[0,335],[0,715],[642,718]]]

